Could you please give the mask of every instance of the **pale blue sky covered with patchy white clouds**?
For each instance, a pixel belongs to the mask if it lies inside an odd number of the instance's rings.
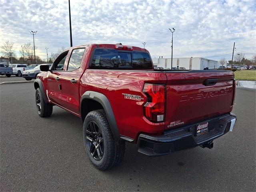
[[[0,45],[33,43],[42,59],[70,46],[68,0],[0,0]],[[73,46],[118,43],[143,46],[152,58],[231,58],[236,52],[251,58],[256,53],[255,0],[70,0]]]

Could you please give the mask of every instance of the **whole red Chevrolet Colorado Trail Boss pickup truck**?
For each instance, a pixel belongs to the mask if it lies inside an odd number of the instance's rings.
[[[59,106],[80,117],[87,156],[102,170],[121,162],[125,141],[148,156],[212,148],[236,122],[230,71],[154,70],[146,49],[122,44],[71,47],[40,69],[38,115]]]

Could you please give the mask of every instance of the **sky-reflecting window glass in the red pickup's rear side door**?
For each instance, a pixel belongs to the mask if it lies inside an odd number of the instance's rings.
[[[82,58],[84,55],[83,49],[74,49],[68,62],[68,71],[74,71],[81,66]]]

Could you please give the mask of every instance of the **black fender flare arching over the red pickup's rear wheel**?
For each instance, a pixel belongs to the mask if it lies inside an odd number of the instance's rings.
[[[112,132],[115,140],[120,140],[120,133],[119,133],[118,126],[116,124],[116,119],[115,119],[115,116],[114,116],[114,113],[113,113],[113,110],[112,110],[112,107],[110,105],[110,102],[109,102],[108,98],[104,94],[101,94],[99,92],[86,91],[82,95],[82,98],[81,98],[81,101],[80,101],[80,112],[82,110],[81,109],[81,106],[82,106],[81,104],[82,104],[82,101],[84,99],[95,100],[103,106],[104,111],[106,112],[106,116],[108,118],[108,123],[110,125],[111,132]]]

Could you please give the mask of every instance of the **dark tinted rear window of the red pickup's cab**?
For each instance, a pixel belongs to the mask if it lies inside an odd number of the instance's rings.
[[[147,52],[96,49],[91,67],[152,69],[152,62]]]

